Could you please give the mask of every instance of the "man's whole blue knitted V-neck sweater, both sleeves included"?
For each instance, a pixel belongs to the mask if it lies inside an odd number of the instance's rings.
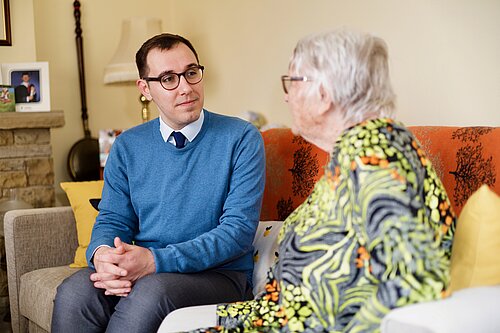
[[[251,282],[252,241],[264,192],[260,132],[208,111],[184,148],[163,141],[158,119],[117,137],[106,162],[87,261],[114,237],[147,247],[156,272],[220,268]]]

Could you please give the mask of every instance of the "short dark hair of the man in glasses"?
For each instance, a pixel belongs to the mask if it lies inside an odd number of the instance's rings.
[[[135,63],[137,65],[137,70],[139,71],[139,77],[143,78],[149,72],[148,63],[146,61],[149,51],[151,51],[152,49],[159,49],[161,51],[170,50],[179,43],[185,44],[187,47],[189,47],[189,49],[193,51],[194,56],[196,57],[196,62],[200,63],[200,60],[198,59],[198,53],[196,53],[196,50],[194,49],[193,44],[191,44],[190,41],[179,35],[164,33],[148,39],[146,42],[144,42],[144,44],[142,44],[139,51],[137,51],[137,53],[135,54]]]

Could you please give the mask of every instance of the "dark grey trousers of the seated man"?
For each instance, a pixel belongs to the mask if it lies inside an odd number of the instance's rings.
[[[152,274],[137,280],[127,297],[104,295],[90,281],[93,272],[82,269],[57,288],[52,333],[151,333],[175,309],[252,298],[251,286],[241,272]]]

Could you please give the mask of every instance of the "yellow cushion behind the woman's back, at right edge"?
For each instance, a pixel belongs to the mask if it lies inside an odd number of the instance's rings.
[[[500,197],[487,185],[467,200],[454,237],[449,291],[500,284]]]

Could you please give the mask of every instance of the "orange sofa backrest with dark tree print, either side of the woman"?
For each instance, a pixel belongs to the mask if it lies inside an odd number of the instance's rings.
[[[500,195],[500,127],[410,126],[448,192],[455,213],[482,184]],[[266,187],[261,221],[284,220],[324,174],[328,153],[290,129],[262,132]]]

